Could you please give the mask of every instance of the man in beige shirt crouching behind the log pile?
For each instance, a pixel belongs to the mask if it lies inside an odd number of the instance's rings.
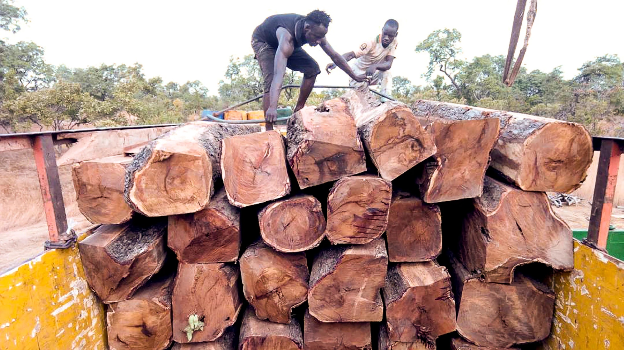
[[[343,55],[344,59],[351,62],[349,66],[354,74],[361,75],[366,73],[369,78],[369,85],[381,85],[381,93],[390,95],[392,93],[392,75],[390,68],[394,60],[399,31],[399,23],[394,19],[389,19],[384,24],[381,34],[375,39],[364,42],[359,45],[358,50],[347,52]],[[336,68],[335,64],[328,64],[327,73]],[[356,82],[351,79],[349,85]]]

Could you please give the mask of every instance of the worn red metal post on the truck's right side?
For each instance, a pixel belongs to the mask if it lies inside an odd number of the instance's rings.
[[[592,213],[587,232],[587,240],[597,245],[598,248],[607,247],[621,154],[622,150],[615,140],[602,140],[596,185],[593,191]]]

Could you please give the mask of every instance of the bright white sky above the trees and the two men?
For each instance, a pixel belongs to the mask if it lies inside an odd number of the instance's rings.
[[[49,64],[144,65],[147,77],[164,82],[200,80],[217,93],[228,58],[251,54],[251,32],[265,17],[277,13],[306,14],[323,9],[332,17],[328,40],[341,54],[381,31],[386,19],[399,22],[394,75],[424,84],[421,73],[429,57],[414,48],[444,27],[462,33],[462,58],[507,54],[515,0],[446,1],[146,1],[146,0],[16,0],[31,20],[9,42],[32,40],[46,50]],[[387,6],[384,6],[386,5]],[[588,60],[604,54],[624,59],[621,15],[624,1],[540,0],[525,55],[527,69],[550,72],[562,65],[566,78]],[[520,35],[519,49],[524,39]],[[323,73],[317,84],[342,85],[339,69],[324,72],[330,62],[320,47],[304,49]],[[518,50],[519,50],[518,49]]]

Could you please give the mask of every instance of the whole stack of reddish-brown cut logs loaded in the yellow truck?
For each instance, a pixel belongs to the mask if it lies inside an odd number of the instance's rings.
[[[76,164],[79,250],[113,350],[512,348],[573,267],[545,191],[591,160],[575,123],[353,90],[286,140],[198,121]]]

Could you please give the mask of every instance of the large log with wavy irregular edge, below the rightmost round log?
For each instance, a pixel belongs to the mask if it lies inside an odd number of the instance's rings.
[[[510,283],[514,269],[531,262],[557,270],[574,267],[572,230],[543,192],[486,176],[481,197],[444,206],[444,213],[459,226],[448,230],[449,247],[485,281]]]

